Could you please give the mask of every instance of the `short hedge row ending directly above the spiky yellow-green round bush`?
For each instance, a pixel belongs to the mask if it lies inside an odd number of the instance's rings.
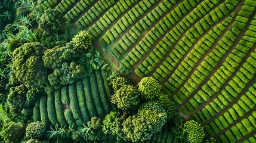
[[[78,27],[87,27],[96,18],[100,17],[100,15],[107,8],[111,7],[113,4],[115,4],[114,0],[111,0],[111,1],[106,1],[106,0],[104,0],[104,1],[97,1],[97,3],[95,5],[93,5],[90,10],[87,11],[87,13],[85,13],[84,15],[82,15],[81,18],[79,18],[79,20],[76,22],[76,24],[78,25]],[[81,9],[83,9],[83,8],[81,8]],[[86,9],[87,8],[84,8],[84,10],[86,10]],[[84,10],[82,10],[82,11],[84,11]],[[69,13],[67,13],[67,14],[69,14]]]

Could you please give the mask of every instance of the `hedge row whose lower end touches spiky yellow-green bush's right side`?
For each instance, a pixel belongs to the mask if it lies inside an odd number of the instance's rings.
[[[131,7],[132,4],[137,2],[138,0],[133,1],[125,1],[121,0],[118,1],[117,4],[113,6],[113,9],[110,8],[109,11],[107,11],[101,18],[98,20],[95,24],[93,24],[89,29],[88,32],[91,33],[92,39],[98,38],[98,36],[103,32],[107,27],[110,26],[110,24],[116,20],[116,18],[119,17],[122,13],[124,13],[126,10],[128,10],[129,7]],[[116,11],[121,11],[120,13],[117,13]]]

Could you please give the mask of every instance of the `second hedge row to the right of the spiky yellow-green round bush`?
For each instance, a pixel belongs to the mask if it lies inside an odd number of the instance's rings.
[[[115,41],[116,38],[119,37],[119,35],[124,32],[129,26],[131,26],[132,23],[134,23],[137,18],[139,18],[141,15],[143,15],[149,8],[152,7],[153,4],[155,4],[156,1],[152,1],[152,3],[149,2],[149,0],[143,0],[140,1],[135,7],[133,7],[131,10],[128,11],[127,14],[125,14],[123,17],[121,17],[117,23],[108,30],[105,35],[103,35],[100,38],[100,43],[103,46],[109,45],[113,41]],[[151,12],[153,13],[153,12]],[[158,14],[157,14],[158,15]],[[132,40],[132,39],[131,39]],[[129,39],[123,39],[125,43],[129,42]]]

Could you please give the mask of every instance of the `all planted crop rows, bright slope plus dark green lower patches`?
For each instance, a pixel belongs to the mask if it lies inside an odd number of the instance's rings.
[[[60,10],[87,30],[113,69],[137,82],[155,77],[208,138],[256,142],[255,0],[41,0],[38,8]],[[62,86],[36,103],[34,121],[76,127],[104,117],[115,110],[107,82],[97,70]],[[150,142],[182,142],[169,130]]]

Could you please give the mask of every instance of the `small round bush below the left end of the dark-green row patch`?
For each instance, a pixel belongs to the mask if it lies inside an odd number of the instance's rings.
[[[29,139],[40,139],[44,136],[46,132],[46,127],[44,123],[39,121],[32,122],[27,125],[26,128],[26,137]]]

